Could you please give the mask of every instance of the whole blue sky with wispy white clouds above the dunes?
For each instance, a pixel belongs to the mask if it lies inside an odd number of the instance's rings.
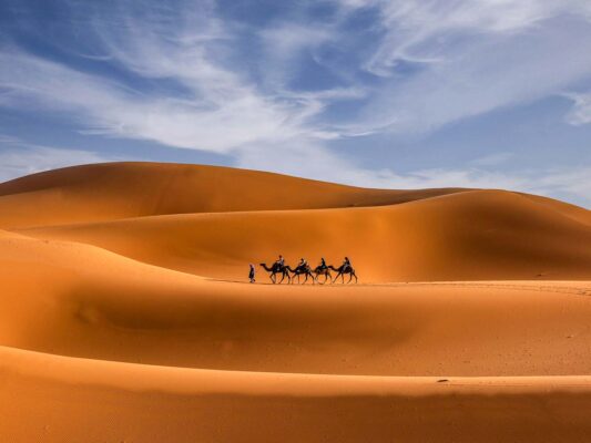
[[[0,0],[0,181],[114,161],[591,207],[589,0]]]

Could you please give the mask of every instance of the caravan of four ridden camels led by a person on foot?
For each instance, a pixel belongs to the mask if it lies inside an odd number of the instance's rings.
[[[285,265],[285,260],[283,256],[279,256],[279,258],[272,265],[267,266],[266,264],[261,264],[261,267],[263,267],[269,275],[271,281],[275,285],[281,285],[286,278],[287,284],[293,284],[295,278],[297,277],[297,282],[300,284],[300,277],[305,277],[303,280],[303,284],[305,285],[308,279],[312,280],[312,284],[319,284],[324,285],[327,281],[330,281],[334,284],[337,281],[338,277],[340,277],[340,282],[345,282],[345,275],[349,276],[348,284],[355,278],[355,282],[357,282],[357,275],[355,274],[355,269],[353,268],[348,257],[345,257],[343,260],[343,265],[340,265],[338,268],[334,267],[333,265],[327,265],[325,259],[320,259],[320,264],[312,269],[309,264],[302,258],[297,266],[295,268],[292,268],[289,265]],[[333,275],[330,271],[335,271],[335,278],[333,278]],[[277,276],[281,276],[281,280],[277,281]],[[323,277],[320,279],[320,277]],[[251,282],[254,282],[254,266],[251,265]]]

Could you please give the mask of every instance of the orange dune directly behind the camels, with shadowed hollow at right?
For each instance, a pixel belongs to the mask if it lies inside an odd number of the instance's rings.
[[[528,197],[475,190],[403,205],[141,217],[21,230],[149,264],[244,279],[282,253],[294,266],[349,256],[365,282],[589,279],[591,225]]]

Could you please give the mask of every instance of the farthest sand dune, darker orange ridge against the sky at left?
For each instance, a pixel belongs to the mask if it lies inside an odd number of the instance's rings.
[[[217,166],[106,163],[0,184],[0,228],[165,214],[390,205],[460,190],[363,189]]]

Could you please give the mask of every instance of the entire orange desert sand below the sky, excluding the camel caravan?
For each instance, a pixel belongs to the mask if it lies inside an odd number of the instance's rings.
[[[357,285],[248,262],[345,255]],[[591,212],[116,163],[0,184],[0,440],[589,442]]]

